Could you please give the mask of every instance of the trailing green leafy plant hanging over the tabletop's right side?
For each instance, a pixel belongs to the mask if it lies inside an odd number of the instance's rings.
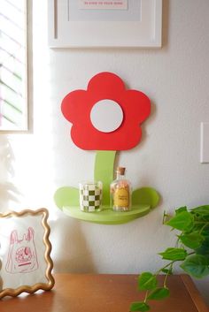
[[[133,302],[130,311],[149,311],[151,300],[163,300],[170,295],[166,284],[173,274],[174,263],[192,278],[205,278],[209,275],[209,205],[194,209],[181,207],[175,209],[174,216],[164,213],[164,224],[171,226],[176,235],[174,247],[160,252],[162,259],[168,261],[155,273],[143,272],[138,277],[138,289],[144,291],[144,300]],[[164,274],[164,282],[159,285],[158,275]]]

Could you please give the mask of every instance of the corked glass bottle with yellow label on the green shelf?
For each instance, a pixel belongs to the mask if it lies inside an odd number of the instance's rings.
[[[111,207],[114,211],[129,211],[131,209],[131,184],[125,178],[126,168],[118,167],[110,186]]]

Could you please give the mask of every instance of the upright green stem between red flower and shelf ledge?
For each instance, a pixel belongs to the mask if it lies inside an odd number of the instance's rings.
[[[96,154],[94,178],[103,182],[103,205],[110,207],[110,184],[113,180],[115,150],[99,150]]]

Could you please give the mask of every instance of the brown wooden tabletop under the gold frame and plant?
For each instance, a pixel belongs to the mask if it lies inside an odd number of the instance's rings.
[[[137,275],[55,274],[51,291],[4,297],[1,312],[128,312],[130,303],[143,299]],[[161,279],[160,277],[159,279]],[[171,296],[152,301],[151,312],[209,312],[191,278],[168,278]]]

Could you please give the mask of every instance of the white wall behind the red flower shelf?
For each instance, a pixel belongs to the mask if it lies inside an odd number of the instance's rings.
[[[33,132],[0,136],[0,209],[47,207],[56,271],[138,273],[161,265],[172,241],[163,210],[209,203],[209,164],[200,164],[200,122],[209,121],[209,2],[164,1],[162,49],[49,49],[46,1],[34,1]],[[71,141],[63,97],[97,72],[115,72],[151,98],[143,141],[120,152],[135,187],[153,186],[161,204],[121,225],[66,217],[53,194],[93,177],[95,151]],[[13,196],[13,197],[12,197]],[[205,281],[197,283],[209,302]]]

